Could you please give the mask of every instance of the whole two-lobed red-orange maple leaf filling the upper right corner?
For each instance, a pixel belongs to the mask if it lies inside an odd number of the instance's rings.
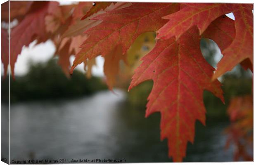
[[[185,5],[180,11],[163,17],[169,21],[157,31],[159,34],[156,38],[168,39],[175,36],[177,40],[192,26],[197,26],[199,35],[201,35],[219,16],[233,12],[235,15],[235,38],[232,44],[222,51],[224,57],[217,65],[218,69],[213,75],[213,80],[247,58],[251,63],[253,62],[252,4],[186,3]]]

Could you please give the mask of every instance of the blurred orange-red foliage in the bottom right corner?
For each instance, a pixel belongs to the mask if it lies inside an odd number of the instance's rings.
[[[253,161],[253,98],[252,95],[235,97],[228,106],[231,125],[225,132],[228,134],[226,148],[234,144],[234,160]],[[250,151],[250,152],[248,152]]]

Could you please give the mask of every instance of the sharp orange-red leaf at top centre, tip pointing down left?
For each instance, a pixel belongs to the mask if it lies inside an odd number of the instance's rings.
[[[142,33],[156,31],[166,23],[162,16],[179,10],[179,4],[172,3],[133,3],[133,5],[100,14],[93,19],[102,22],[85,31],[89,35],[81,45],[81,51],[71,67],[73,69],[85,59],[98,55],[103,57],[116,45],[121,45],[123,54]]]

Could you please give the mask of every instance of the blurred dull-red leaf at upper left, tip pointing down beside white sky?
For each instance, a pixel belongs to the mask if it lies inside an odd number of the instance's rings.
[[[28,46],[34,39],[47,40],[45,33],[45,15],[58,7],[58,2],[36,2],[32,10],[10,33],[10,65],[14,76],[14,65],[22,47]]]

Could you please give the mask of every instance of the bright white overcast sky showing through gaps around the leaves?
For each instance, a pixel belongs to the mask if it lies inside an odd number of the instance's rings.
[[[75,2],[76,3],[76,2]],[[70,1],[61,1],[61,5],[69,5],[71,4]],[[234,15],[232,13],[227,14],[231,19],[235,19]],[[45,62],[53,57],[55,52],[55,46],[51,40],[48,40],[47,42],[40,43],[38,45],[35,45],[36,42],[32,42],[28,47],[23,47],[21,54],[18,56],[17,62],[15,64],[14,72],[15,75],[24,75],[28,71],[28,61],[33,62]],[[220,55],[218,60],[220,60],[222,56]],[[74,60],[74,56],[71,56],[70,62],[72,64]],[[93,66],[92,68],[92,75],[95,76],[104,76],[103,73],[103,64],[104,64],[104,58],[101,56],[98,56],[96,58],[97,66]],[[83,70],[83,64],[80,64],[76,67],[76,69]],[[3,74],[3,64],[1,63],[1,74]]]

